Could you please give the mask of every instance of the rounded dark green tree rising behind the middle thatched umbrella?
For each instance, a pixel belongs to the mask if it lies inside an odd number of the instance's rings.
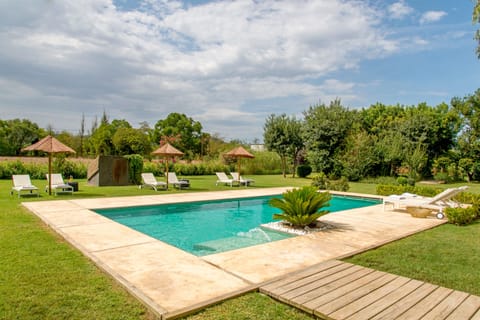
[[[199,155],[202,149],[202,125],[185,114],[170,113],[166,119],[158,120],[155,124],[155,141],[158,143],[165,137],[176,137],[172,144],[185,152],[187,158]]]

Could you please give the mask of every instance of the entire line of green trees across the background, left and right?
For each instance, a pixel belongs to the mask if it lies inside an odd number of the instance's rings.
[[[80,157],[139,154],[150,159],[151,152],[168,141],[185,152],[184,160],[220,161],[221,165],[232,165],[222,154],[242,144],[203,132],[200,122],[184,114],[171,113],[153,128],[146,122],[134,128],[124,119],[110,121],[104,112],[88,130],[82,117],[78,134],[53,133],[26,119],[0,120],[0,155],[20,155],[23,147],[47,134],[75,149]],[[246,173],[295,174],[302,164],[329,179],[400,176],[410,184],[430,177],[478,181],[480,89],[437,106],[377,103],[357,110],[337,99],[310,106],[302,119],[272,114],[265,121],[264,144],[279,158],[257,152],[256,159],[246,161]],[[182,171],[203,172],[198,161],[196,167],[182,167]]]

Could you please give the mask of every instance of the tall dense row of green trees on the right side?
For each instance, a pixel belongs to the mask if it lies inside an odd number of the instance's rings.
[[[480,180],[480,89],[450,105],[387,106],[361,110],[340,100],[304,111],[303,119],[272,114],[264,141],[295,171],[307,163],[332,178],[403,176]]]

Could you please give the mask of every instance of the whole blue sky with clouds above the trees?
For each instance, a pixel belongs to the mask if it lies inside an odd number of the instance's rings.
[[[270,114],[436,106],[480,88],[470,0],[0,1],[0,119],[77,133],[185,113],[262,140]]]

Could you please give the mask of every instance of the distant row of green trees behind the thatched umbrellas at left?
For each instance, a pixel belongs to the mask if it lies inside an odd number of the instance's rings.
[[[94,120],[86,129],[85,118],[78,134],[67,131],[53,132],[51,128],[39,128],[28,119],[0,119],[0,155],[18,156],[21,149],[40,140],[47,134],[70,146],[78,157],[99,155],[140,154],[151,158],[151,152],[163,142],[170,142],[185,152],[184,159],[214,157],[239,141],[225,142],[220,137],[202,131],[200,122],[185,114],[171,113],[158,120],[153,128],[143,122],[134,128],[125,119],[109,120],[104,112],[100,121]]]

